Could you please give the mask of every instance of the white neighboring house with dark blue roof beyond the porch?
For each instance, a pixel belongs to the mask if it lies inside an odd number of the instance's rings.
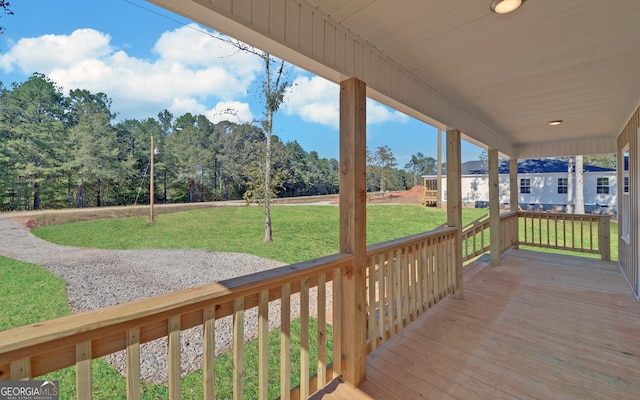
[[[509,162],[499,167],[500,203],[509,205]],[[437,187],[435,174],[424,175],[426,188]],[[575,174],[573,176],[575,198]],[[447,178],[442,178],[442,201],[446,202]],[[559,159],[529,159],[518,161],[518,203],[524,210],[565,211],[569,186],[568,163]],[[587,213],[617,214],[618,189],[616,170],[584,166],[584,208]],[[462,202],[467,207],[489,206],[489,176],[487,161],[467,161],[462,164]]]

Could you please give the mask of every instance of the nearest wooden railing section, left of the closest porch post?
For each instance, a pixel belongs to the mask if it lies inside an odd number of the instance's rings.
[[[336,254],[256,274],[212,283],[154,298],[70,315],[35,325],[0,332],[0,379],[29,379],[76,366],[78,399],[92,396],[91,360],[126,350],[126,385],[129,399],[140,398],[140,344],[168,338],[170,399],[181,396],[180,332],[203,326],[204,398],[215,398],[215,321],[233,318],[233,397],[244,397],[244,314],[258,309],[259,398],[268,389],[269,302],[280,301],[280,396],[306,398],[318,385],[341,373],[340,271],[353,256]],[[326,290],[333,281],[333,370],[327,363]],[[318,374],[309,375],[309,291],[317,287]],[[336,292],[338,291],[338,292]],[[300,296],[300,387],[291,389],[290,308],[292,294]],[[331,292],[329,292],[331,293]],[[277,316],[276,316],[277,317]]]

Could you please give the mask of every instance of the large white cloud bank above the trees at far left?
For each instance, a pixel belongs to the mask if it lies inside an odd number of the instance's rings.
[[[0,54],[0,68],[44,73],[65,93],[103,92],[124,118],[153,117],[165,108],[174,115],[203,114],[216,102],[247,96],[262,62],[201,31],[190,25],[165,32],[154,60],[114,48],[109,35],[93,29],[21,39]],[[243,113],[250,115],[248,107]]]

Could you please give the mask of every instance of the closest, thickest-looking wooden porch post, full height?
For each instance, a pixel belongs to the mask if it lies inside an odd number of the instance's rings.
[[[367,355],[365,105],[364,82],[351,78],[340,84],[340,251],[354,256],[341,276],[343,380],[353,387],[365,379]]]

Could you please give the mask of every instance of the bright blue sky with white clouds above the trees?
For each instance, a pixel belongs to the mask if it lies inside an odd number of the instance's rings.
[[[142,0],[18,0],[2,16],[0,81],[5,87],[34,72],[65,94],[103,92],[118,120],[203,114],[213,122],[262,117],[261,60],[212,38],[217,32]],[[294,83],[275,119],[274,134],[306,151],[338,158],[338,87],[290,66]],[[234,115],[224,110],[234,109]],[[437,130],[373,101],[367,104],[367,146],[388,145],[404,167],[412,154],[436,158]],[[481,149],[463,142],[463,161]],[[443,149],[444,153],[444,149]]]

